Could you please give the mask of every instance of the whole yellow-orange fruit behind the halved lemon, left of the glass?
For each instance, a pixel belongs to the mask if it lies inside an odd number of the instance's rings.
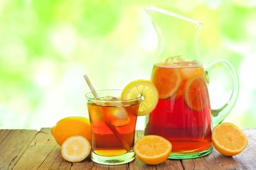
[[[92,144],[92,130],[90,120],[80,116],[63,118],[51,128],[51,133],[58,145],[62,145],[68,137],[81,135]]]

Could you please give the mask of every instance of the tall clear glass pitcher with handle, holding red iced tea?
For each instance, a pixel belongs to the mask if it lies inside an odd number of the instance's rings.
[[[201,23],[161,8],[148,7],[159,40],[151,81],[159,103],[146,117],[145,135],[161,135],[173,145],[169,159],[203,157],[213,149],[212,128],[222,122],[238,98],[238,75],[230,62],[201,63],[197,38]],[[171,33],[171,34],[170,34]],[[225,105],[210,108],[209,74],[226,67],[233,77],[233,92]]]

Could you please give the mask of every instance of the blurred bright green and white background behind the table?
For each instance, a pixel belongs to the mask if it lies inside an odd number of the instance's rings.
[[[256,127],[256,1],[1,0],[0,128],[40,129],[66,116],[88,117],[83,74],[95,89],[150,79],[157,42],[150,41],[156,33],[145,6],[203,23],[204,66],[228,60],[240,77],[238,102],[225,121]],[[228,101],[232,89],[225,71],[215,72],[212,108]]]

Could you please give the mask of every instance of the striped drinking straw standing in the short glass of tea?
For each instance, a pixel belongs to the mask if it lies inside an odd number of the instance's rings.
[[[85,78],[85,81],[87,82],[90,90],[92,91],[93,96],[95,96],[95,98],[99,98],[99,96],[97,95],[97,92],[95,91],[94,87],[92,86],[92,83],[90,82],[89,77],[87,77],[87,74],[85,74],[83,76]],[[116,128],[114,128],[114,125],[112,125],[111,121],[107,121],[106,118],[104,118],[105,120],[105,125],[107,125],[108,128],[110,128],[110,130],[112,130],[112,132],[114,133],[114,135],[117,137],[117,139],[119,140],[119,142],[122,143],[124,149],[126,149],[126,151],[128,152],[130,150],[130,147],[127,143],[127,141],[124,139],[124,136],[122,136]]]

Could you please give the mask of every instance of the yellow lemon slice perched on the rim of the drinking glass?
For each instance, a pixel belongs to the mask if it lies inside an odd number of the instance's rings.
[[[122,100],[141,97],[138,115],[147,115],[156,108],[159,94],[156,86],[149,80],[135,80],[127,84],[121,94]]]

